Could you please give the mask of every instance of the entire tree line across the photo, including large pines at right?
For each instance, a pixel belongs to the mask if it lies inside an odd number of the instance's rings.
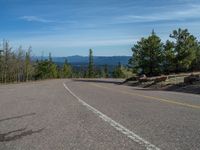
[[[174,30],[170,40],[162,42],[152,31],[132,47],[133,55],[127,66],[120,62],[111,71],[105,64],[95,67],[93,50],[89,50],[88,67],[75,69],[67,61],[58,65],[48,59],[32,60],[32,47],[20,46],[13,50],[4,40],[0,48],[0,83],[27,82],[55,78],[128,78],[133,74],[157,76],[163,74],[193,72],[200,70],[200,43],[187,29]]]

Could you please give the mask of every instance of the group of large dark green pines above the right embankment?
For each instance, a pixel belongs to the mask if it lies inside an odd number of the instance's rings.
[[[187,29],[174,30],[165,45],[153,32],[142,38],[132,48],[129,60],[136,73],[147,76],[200,70],[200,46],[197,39]]]

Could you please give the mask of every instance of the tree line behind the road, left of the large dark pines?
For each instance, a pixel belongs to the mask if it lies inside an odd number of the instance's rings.
[[[32,59],[32,47],[24,50],[20,46],[17,50],[12,50],[9,42],[4,40],[0,51],[0,83],[27,82],[56,78],[124,78],[123,67],[120,63],[112,72],[108,65],[101,68],[95,67],[93,61],[93,51],[89,50],[88,68],[73,68],[65,59],[62,65],[58,65],[52,60],[51,53],[48,59]]]

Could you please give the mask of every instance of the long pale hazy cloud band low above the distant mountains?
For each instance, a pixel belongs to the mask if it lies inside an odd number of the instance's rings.
[[[80,40],[77,37],[64,37],[64,36],[44,36],[44,37],[35,37],[35,38],[22,38],[18,40],[13,40],[12,43],[19,45],[22,43],[26,45],[30,43],[33,47],[63,47],[63,48],[72,48],[72,47],[95,47],[95,46],[114,46],[114,45],[131,45],[133,42],[136,42],[136,38],[131,37],[121,37],[114,39],[91,39],[85,38]]]

